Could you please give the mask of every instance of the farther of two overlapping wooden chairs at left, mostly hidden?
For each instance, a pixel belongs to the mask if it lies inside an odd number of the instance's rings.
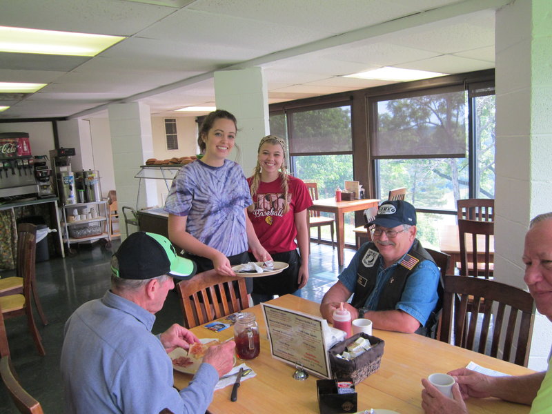
[[[34,237],[37,236],[37,226],[34,226],[34,224],[30,223],[20,223],[17,225],[17,259],[16,259],[16,266],[15,271],[16,275],[12,277],[4,277],[3,279],[0,279],[0,297],[1,296],[7,296],[7,295],[17,295],[19,293],[23,293],[23,268],[24,268],[24,259],[23,255],[19,255],[19,252],[23,251],[23,239],[22,233],[30,233]],[[36,246],[35,246],[36,250]],[[34,284],[34,269],[36,268],[36,265],[32,265],[32,272],[33,272],[33,284],[31,286],[32,289],[32,297],[34,299],[34,306],[37,306],[37,311],[40,315],[40,319],[42,319],[42,323],[44,325],[48,325],[48,319],[46,319],[46,315],[44,314],[42,310],[42,304],[40,302],[40,298],[38,295],[38,290],[36,288],[36,284]]]

